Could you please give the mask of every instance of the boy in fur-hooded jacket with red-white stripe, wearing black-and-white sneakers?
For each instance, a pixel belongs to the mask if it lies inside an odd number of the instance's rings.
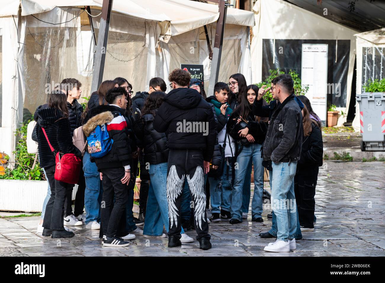
[[[116,236],[119,220],[126,209],[127,184],[131,178],[132,162],[126,113],[126,90],[122,87],[107,91],[106,101],[110,105],[100,105],[87,113],[83,126],[85,136],[89,136],[97,125],[107,125],[109,137],[114,141],[111,150],[103,157],[94,158],[100,179],[103,181],[104,206],[101,207],[101,225],[104,246],[128,246],[122,238]],[[110,211],[112,194],[115,194],[114,208]]]

